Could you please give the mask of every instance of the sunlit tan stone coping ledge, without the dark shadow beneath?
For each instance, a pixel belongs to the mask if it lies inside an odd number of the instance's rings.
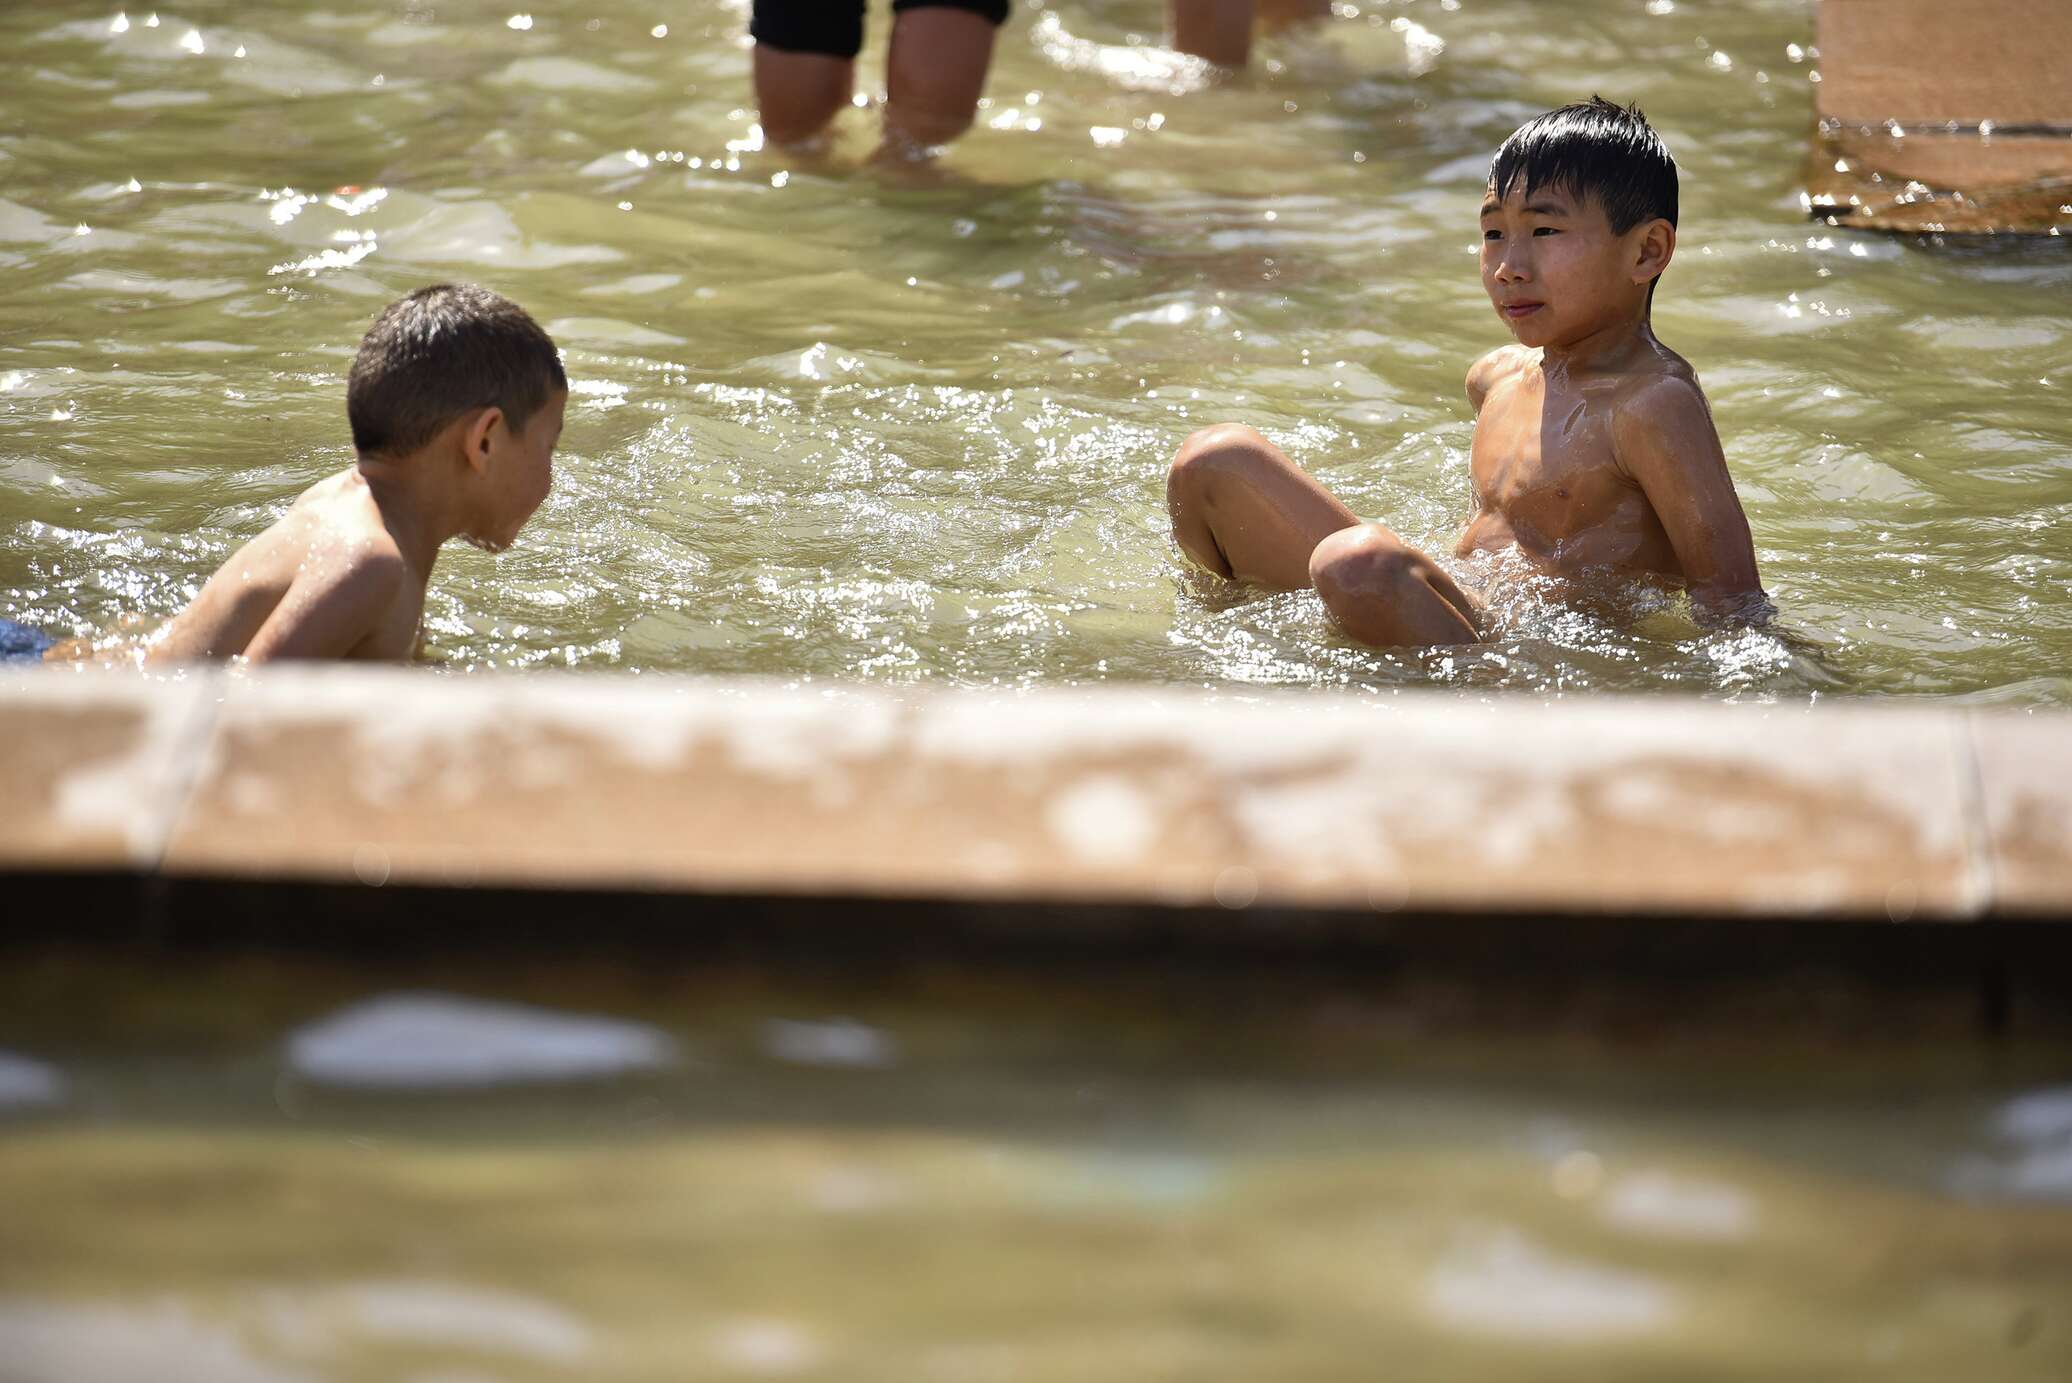
[[[601,674],[0,676],[0,871],[2072,916],[2072,715]]]

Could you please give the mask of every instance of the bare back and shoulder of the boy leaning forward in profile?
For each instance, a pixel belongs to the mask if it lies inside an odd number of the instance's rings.
[[[429,578],[404,558],[367,479],[342,471],[224,562],[147,661],[408,659]]]

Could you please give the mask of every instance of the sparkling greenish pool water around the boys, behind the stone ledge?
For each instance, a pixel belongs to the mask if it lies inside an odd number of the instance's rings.
[[[1353,0],[1241,81],[1152,0],[1021,2],[978,129],[899,178],[868,112],[818,164],[754,147],[744,10],[0,12],[0,616],[180,608],[350,460],[375,309],[472,278],[576,398],[518,547],[441,560],[452,666],[2072,703],[2072,255],[1809,224],[1805,0]],[[1589,91],[1682,166],[1656,326],[1778,626],[1527,593],[1490,649],[1388,655],[1189,574],[1164,462],[1231,417],[1448,539],[1504,340],[1486,160]]]

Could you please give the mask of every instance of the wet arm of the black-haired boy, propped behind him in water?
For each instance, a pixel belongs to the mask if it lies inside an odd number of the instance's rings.
[[[1691,603],[1711,616],[1767,614],[1749,516],[1697,384],[1658,379],[1612,417],[1612,448],[1662,520]]]

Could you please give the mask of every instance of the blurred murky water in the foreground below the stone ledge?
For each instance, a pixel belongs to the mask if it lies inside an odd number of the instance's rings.
[[[1363,989],[17,958],[0,1379],[2072,1368],[2062,1051]]]

